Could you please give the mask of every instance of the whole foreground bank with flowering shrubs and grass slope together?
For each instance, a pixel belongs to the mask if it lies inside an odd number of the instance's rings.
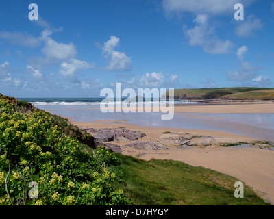
[[[1,95],[0,113],[0,205],[267,205],[247,185],[234,198],[238,179],[213,170],[92,149],[30,103]]]

